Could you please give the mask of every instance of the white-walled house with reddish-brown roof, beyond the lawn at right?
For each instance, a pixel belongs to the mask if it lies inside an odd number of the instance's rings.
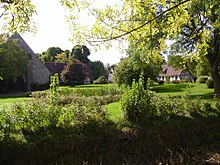
[[[166,82],[188,80],[192,82],[193,78],[188,71],[182,69],[175,70],[172,66],[162,65],[162,71],[158,76],[158,80]]]

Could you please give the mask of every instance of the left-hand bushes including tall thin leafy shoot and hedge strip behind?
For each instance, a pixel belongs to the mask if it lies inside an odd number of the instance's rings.
[[[92,88],[92,92],[87,93],[79,88],[65,93],[58,89],[57,82],[57,76],[53,76],[50,90],[34,92],[32,101],[1,111],[0,141],[13,140],[13,137],[23,137],[27,133],[34,135],[41,129],[50,128],[82,131],[82,127],[85,127],[86,132],[91,133],[109,122],[103,105],[121,99],[120,91],[113,88]]]

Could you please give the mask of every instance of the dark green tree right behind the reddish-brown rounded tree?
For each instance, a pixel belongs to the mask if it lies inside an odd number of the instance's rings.
[[[101,61],[91,61],[89,67],[92,70],[92,81],[98,79],[100,76],[106,76],[107,74],[107,70]]]

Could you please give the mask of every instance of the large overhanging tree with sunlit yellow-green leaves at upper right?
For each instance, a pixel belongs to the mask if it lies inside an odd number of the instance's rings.
[[[77,18],[76,15],[80,14],[74,12],[77,8],[87,9],[96,18],[90,30],[79,28],[77,23],[70,21],[75,36],[82,39],[80,35],[83,35],[83,39],[91,43],[125,39],[142,45],[144,37],[145,41],[157,40],[159,44],[152,45],[151,49],[162,51],[166,49],[165,39],[179,40],[184,53],[190,57],[196,60],[202,56],[207,58],[214,93],[220,96],[219,0],[121,0],[120,5],[105,8],[96,8],[86,0],[61,2],[72,11],[70,18]],[[74,19],[74,22],[77,21]],[[158,37],[161,32],[162,36]]]

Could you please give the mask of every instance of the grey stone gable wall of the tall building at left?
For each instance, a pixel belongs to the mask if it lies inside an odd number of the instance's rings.
[[[25,89],[30,91],[33,89],[33,86],[49,84],[50,71],[44,66],[25,40],[19,34],[11,36],[10,39],[17,40],[18,45],[26,51],[29,57],[26,75],[19,76],[19,80],[23,83]]]

